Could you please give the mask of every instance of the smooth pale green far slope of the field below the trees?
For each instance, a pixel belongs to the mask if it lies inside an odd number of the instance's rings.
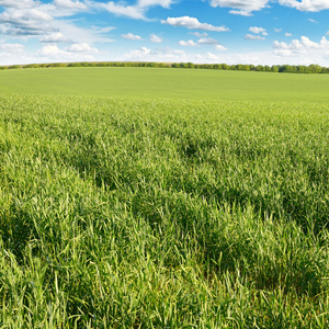
[[[328,75],[145,68],[69,68],[0,72],[0,92],[148,99],[328,102]]]

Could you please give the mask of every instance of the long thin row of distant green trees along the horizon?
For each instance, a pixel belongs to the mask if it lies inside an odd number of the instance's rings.
[[[329,73],[329,67],[311,64],[305,65],[246,65],[246,64],[193,64],[193,63],[156,63],[156,61],[81,61],[81,63],[48,63],[0,66],[5,69],[53,68],[53,67],[156,67],[156,68],[190,68],[190,69],[216,69],[237,71],[264,71],[283,73]]]

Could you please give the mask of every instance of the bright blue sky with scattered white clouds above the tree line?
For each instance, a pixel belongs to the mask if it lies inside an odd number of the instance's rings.
[[[329,66],[329,0],[0,0],[0,65]]]

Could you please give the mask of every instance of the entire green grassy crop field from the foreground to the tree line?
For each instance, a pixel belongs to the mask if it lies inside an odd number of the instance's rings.
[[[328,90],[0,71],[0,327],[328,328]]]

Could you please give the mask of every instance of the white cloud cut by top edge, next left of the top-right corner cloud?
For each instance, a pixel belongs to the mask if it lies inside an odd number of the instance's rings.
[[[212,7],[234,8],[231,14],[251,15],[252,11],[259,11],[266,7],[270,0],[212,0]]]

